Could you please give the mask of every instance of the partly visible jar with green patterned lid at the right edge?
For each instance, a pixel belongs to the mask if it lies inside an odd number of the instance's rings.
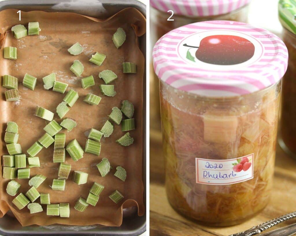
[[[296,22],[294,15],[288,10],[296,6],[291,5],[292,2],[280,1],[279,3],[279,19],[284,26],[282,38],[289,52],[288,69],[284,75],[282,83],[282,108],[279,144],[287,153],[296,158]],[[288,4],[288,5],[287,5]],[[288,14],[286,17],[283,14]],[[284,20],[283,20],[284,19]],[[290,21],[290,28],[286,21]]]

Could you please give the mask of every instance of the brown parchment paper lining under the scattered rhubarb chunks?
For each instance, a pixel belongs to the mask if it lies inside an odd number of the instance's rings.
[[[52,181],[57,178],[59,163],[53,163],[53,145],[43,148],[38,153],[40,168],[31,168],[30,176],[43,174],[47,176],[44,183],[38,187],[40,193],[49,193],[51,203],[70,203],[70,218],[46,216],[46,205],[42,205],[44,211],[37,214],[30,214],[27,207],[18,210],[12,204],[13,196],[6,193],[8,179],[0,177],[0,217],[10,209],[23,226],[38,224],[68,224],[68,225],[91,225],[102,224],[107,226],[120,226],[122,223],[122,209],[132,206],[138,207],[138,215],[144,214],[143,203],[143,182],[142,182],[142,155],[143,155],[143,74],[144,56],[139,49],[138,37],[146,31],[144,16],[134,8],[124,9],[107,20],[99,20],[75,13],[48,13],[42,11],[22,12],[22,20],[19,21],[17,10],[4,10],[0,12],[0,75],[9,74],[19,79],[19,92],[21,99],[17,102],[6,102],[4,97],[5,88],[0,87],[0,154],[7,154],[4,143],[6,123],[15,121],[19,125],[19,141],[23,153],[43,134],[43,128],[48,123],[46,120],[34,116],[37,105],[56,112],[57,105],[62,102],[65,94],[46,91],[43,89],[42,77],[55,72],[57,81],[68,83],[69,89],[78,91],[79,99],[64,118],[70,117],[77,121],[77,127],[66,133],[66,145],[76,138],[84,148],[87,140],[88,130],[95,128],[100,130],[108,119],[112,107],[120,107],[120,101],[128,99],[134,104],[136,130],[130,131],[135,142],[129,147],[122,147],[115,143],[124,132],[121,126],[115,125],[114,132],[109,138],[102,138],[102,148],[99,157],[85,153],[84,158],[74,162],[66,155],[66,162],[72,165],[69,178],[66,180],[65,191],[53,191]],[[16,40],[11,34],[11,27],[16,24],[28,26],[28,22],[38,21],[40,35],[27,36]],[[112,42],[112,35],[118,27],[126,32],[126,41],[120,49],[117,49]],[[75,42],[79,42],[84,51],[80,55],[73,56],[67,49]],[[17,47],[17,60],[3,59],[3,47]],[[96,51],[107,55],[101,66],[89,62],[89,58]],[[74,60],[80,60],[84,65],[81,77],[76,77],[70,66]],[[123,74],[122,62],[134,62],[137,64],[136,74]],[[98,106],[91,106],[83,102],[88,93],[102,95],[99,91],[99,84],[104,84],[98,74],[100,71],[110,69],[118,75],[118,79],[112,83],[117,92],[114,97],[102,96]],[[22,86],[22,79],[25,73],[37,77],[37,85],[34,91]],[[81,78],[93,75],[95,86],[86,90],[81,88]],[[2,78],[0,79],[2,85]],[[54,119],[60,122],[57,114]],[[106,177],[101,177],[96,164],[103,157],[110,160],[113,169]],[[114,176],[117,166],[123,166],[127,171],[126,181],[123,182]],[[74,170],[81,170],[89,173],[86,184],[77,185],[72,183]],[[25,194],[30,186],[28,179],[18,180],[21,184],[20,192]],[[74,209],[75,202],[79,197],[87,198],[89,189],[94,181],[105,186],[101,193],[96,207],[89,205],[85,212],[78,212]],[[109,195],[118,189],[124,199],[115,204],[109,199]],[[18,193],[18,194],[19,194]],[[40,203],[40,199],[36,200]]]

